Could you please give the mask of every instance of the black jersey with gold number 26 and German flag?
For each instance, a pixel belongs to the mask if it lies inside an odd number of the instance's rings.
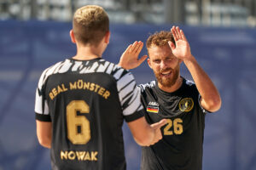
[[[201,170],[205,110],[195,83],[183,79],[173,93],[162,91],[155,81],[138,87],[147,121],[167,119],[163,139],[142,148],[142,170]]]

